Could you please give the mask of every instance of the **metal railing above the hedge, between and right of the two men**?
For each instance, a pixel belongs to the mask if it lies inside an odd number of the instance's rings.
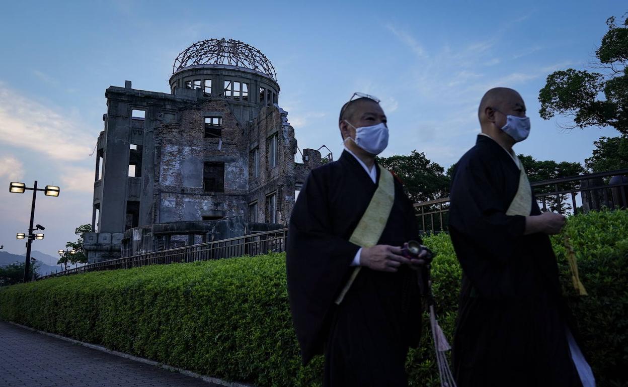
[[[559,213],[575,214],[578,211],[587,212],[603,207],[628,208],[628,182],[605,184],[604,178],[611,176],[628,176],[628,169],[536,181],[530,185],[543,211],[548,211],[549,208]],[[593,184],[595,181],[601,184]],[[576,201],[578,193],[581,194],[581,207]],[[571,197],[571,203],[566,203],[568,196]],[[420,218],[421,233],[447,231],[449,203],[449,198],[443,198],[414,204],[416,217]],[[566,204],[570,204],[571,208]]]

